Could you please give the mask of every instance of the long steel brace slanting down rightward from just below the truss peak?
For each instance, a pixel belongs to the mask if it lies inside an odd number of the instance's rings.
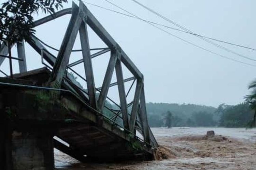
[[[86,84],[88,89],[89,102],[93,108],[97,109],[98,106],[97,106],[97,99],[96,99],[93,65],[91,63],[87,26],[84,21],[81,24],[79,33],[80,33],[80,41],[81,41],[82,54],[83,54],[85,77],[87,80]]]

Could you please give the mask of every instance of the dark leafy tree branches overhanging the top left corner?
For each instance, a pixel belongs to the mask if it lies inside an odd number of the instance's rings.
[[[43,13],[53,14],[67,0],[9,0],[2,3],[0,8],[0,44],[18,43],[29,39],[33,29],[32,14],[42,10]]]

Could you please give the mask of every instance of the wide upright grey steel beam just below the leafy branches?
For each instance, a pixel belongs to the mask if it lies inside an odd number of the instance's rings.
[[[22,42],[20,42],[20,43],[17,43],[17,52],[18,52],[18,58],[23,60],[23,61],[19,61],[19,72],[20,73],[26,72],[27,71],[27,63],[26,63],[24,40],[22,40]]]

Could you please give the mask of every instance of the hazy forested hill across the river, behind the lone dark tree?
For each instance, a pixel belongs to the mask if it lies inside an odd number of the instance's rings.
[[[148,123],[151,127],[165,126],[165,114],[172,113],[172,126],[213,126],[218,117],[215,107],[196,104],[147,103]],[[198,119],[199,117],[199,119]],[[205,120],[207,120],[205,122]]]

